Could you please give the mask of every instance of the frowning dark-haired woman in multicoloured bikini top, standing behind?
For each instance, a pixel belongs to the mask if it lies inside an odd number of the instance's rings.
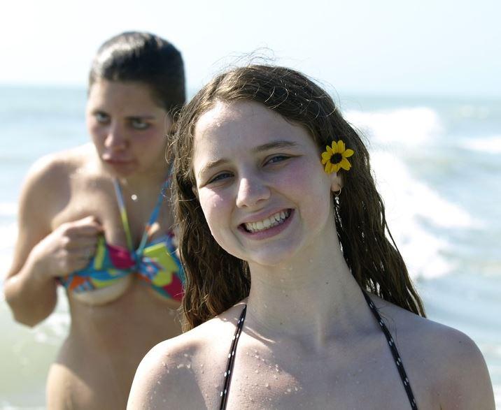
[[[148,33],[106,41],[92,63],[92,143],[47,156],[20,197],[4,285],[17,321],[47,318],[67,290],[71,328],[47,382],[48,409],[123,409],[134,371],[178,335],[183,294],[171,226],[172,118],[185,102],[183,59]]]

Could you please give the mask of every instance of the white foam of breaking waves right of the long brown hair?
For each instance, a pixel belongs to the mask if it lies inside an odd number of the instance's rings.
[[[409,173],[399,152],[426,145],[442,133],[430,108],[378,112],[351,111],[348,121],[370,138],[376,184],[386,205],[388,225],[413,277],[446,274],[453,265],[443,256],[451,244],[430,226],[466,228],[472,217]]]

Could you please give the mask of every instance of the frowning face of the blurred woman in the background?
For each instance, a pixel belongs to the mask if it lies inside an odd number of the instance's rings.
[[[167,112],[139,82],[94,82],[87,99],[87,129],[113,175],[129,177],[164,168]]]

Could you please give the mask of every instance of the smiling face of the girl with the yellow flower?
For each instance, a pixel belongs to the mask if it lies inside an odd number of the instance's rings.
[[[336,235],[339,177],[323,172],[306,129],[264,105],[217,103],[202,115],[192,166],[213,237],[251,265],[291,261]]]

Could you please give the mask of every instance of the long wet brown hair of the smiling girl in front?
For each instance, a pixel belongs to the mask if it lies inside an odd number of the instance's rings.
[[[288,121],[304,126],[323,152],[332,140],[355,151],[349,172],[340,170],[344,187],[334,202],[337,234],[348,267],[361,288],[425,316],[406,265],[386,223],[376,191],[369,152],[341,116],[332,98],[302,73],[278,66],[252,65],[218,75],[183,108],[174,136],[173,189],[179,250],[185,267],[184,330],[224,312],[248,296],[248,264],[228,254],[211,235],[193,193],[195,124],[218,101],[255,101]],[[320,161],[320,160],[319,160]],[[338,203],[339,202],[339,203]]]

